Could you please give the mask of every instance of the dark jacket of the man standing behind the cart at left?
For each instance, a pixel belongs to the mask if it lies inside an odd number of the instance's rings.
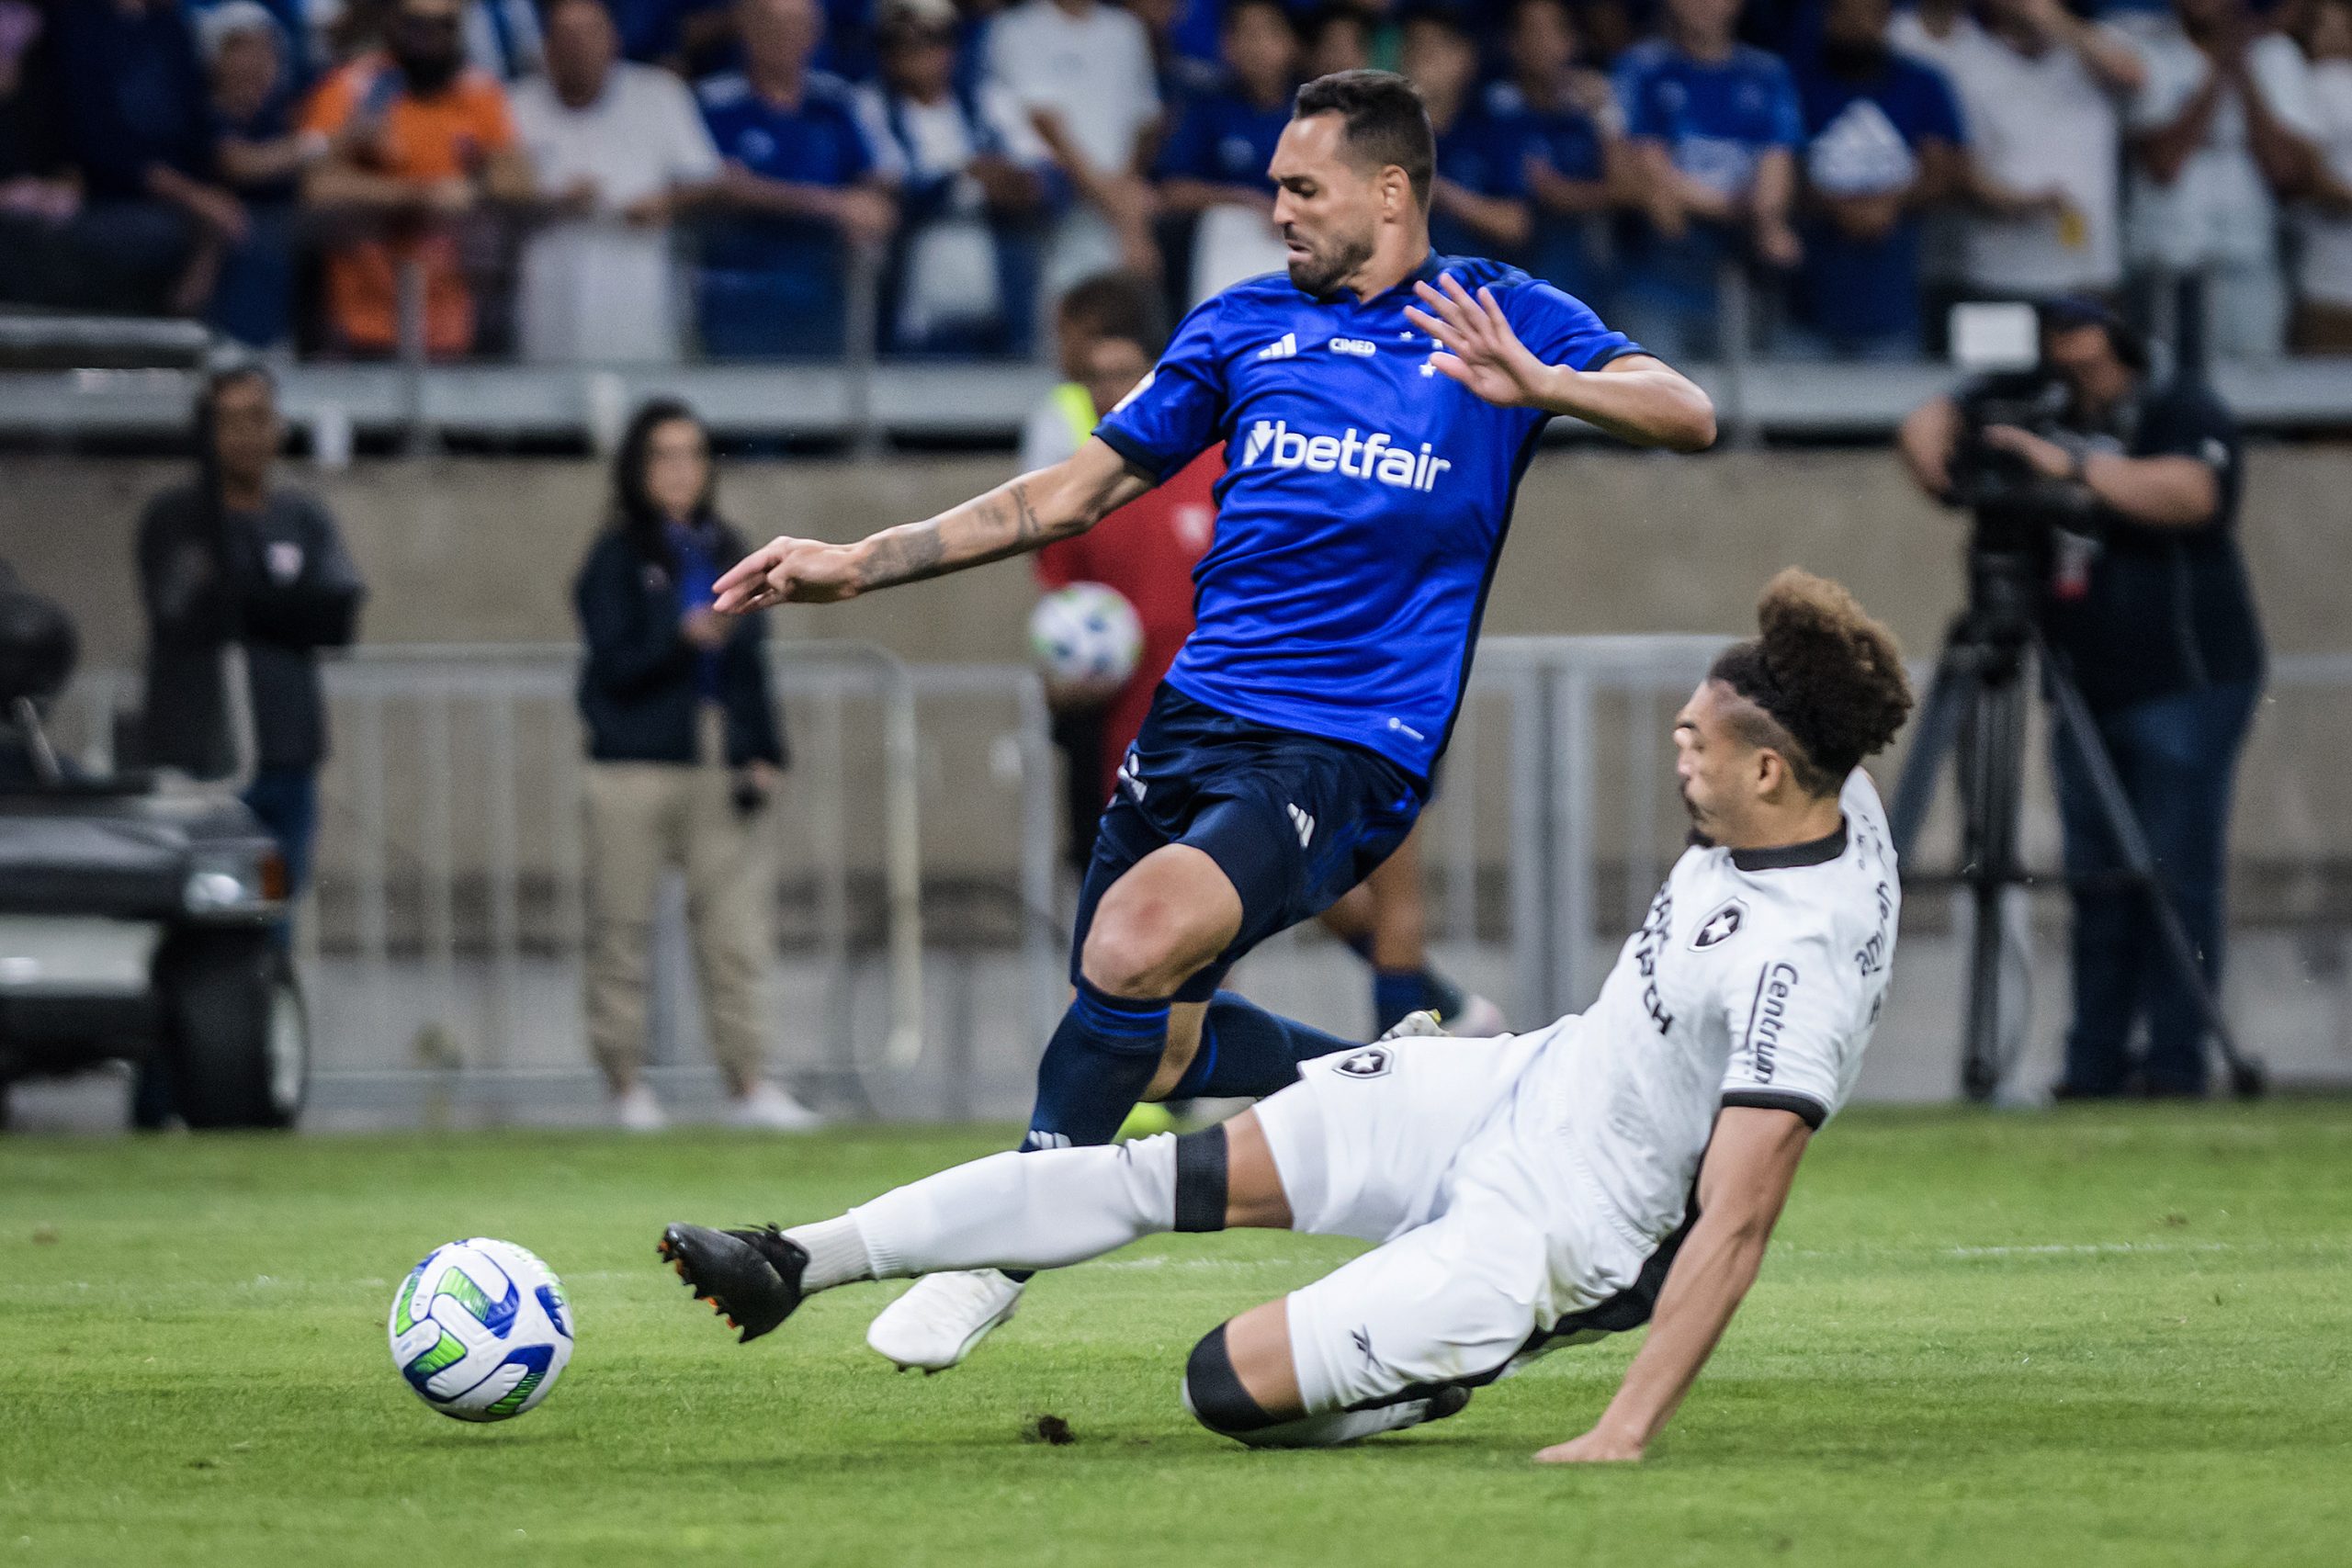
[[[167,489],[139,520],[139,592],[148,764],[198,778],[235,771],[221,663],[233,642],[245,646],[259,764],[325,762],[318,651],[350,644],[367,597],[325,505],[280,489],[259,512],[223,515],[193,484]]]

